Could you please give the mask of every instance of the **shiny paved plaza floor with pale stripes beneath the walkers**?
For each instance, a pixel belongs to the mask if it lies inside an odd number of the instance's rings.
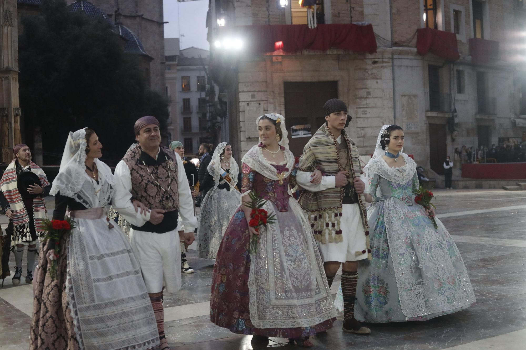
[[[340,314],[327,334],[313,339],[316,349],[526,349],[526,191],[437,190],[435,194],[438,216],[457,242],[477,305],[430,321],[369,324],[369,336],[343,333]],[[0,217],[3,228],[6,222]],[[196,273],[184,274],[180,292],[165,296],[166,335],[173,349],[292,348],[283,338],[252,344],[251,336],[210,323],[214,261],[197,258],[195,244],[190,248],[194,249],[188,260]],[[13,254],[11,262],[13,266]],[[11,278],[0,288],[0,349],[27,349],[32,287],[23,279],[13,286]],[[338,285],[339,277],[333,293]]]

